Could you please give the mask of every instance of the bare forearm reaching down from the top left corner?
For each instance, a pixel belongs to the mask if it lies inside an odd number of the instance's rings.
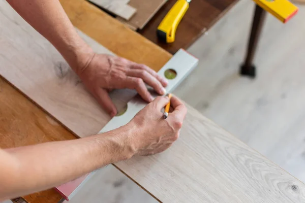
[[[24,20],[63,55],[74,71],[85,66],[92,49],[79,37],[58,0],[7,0]]]

